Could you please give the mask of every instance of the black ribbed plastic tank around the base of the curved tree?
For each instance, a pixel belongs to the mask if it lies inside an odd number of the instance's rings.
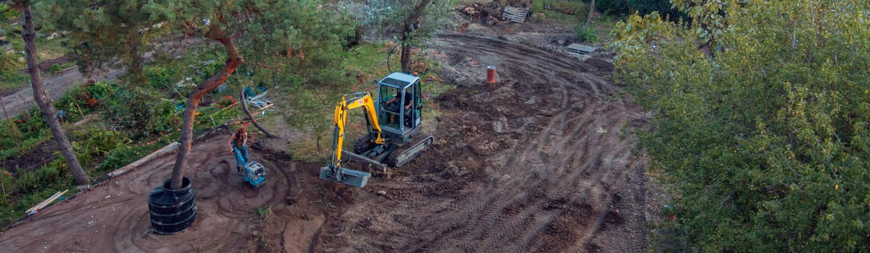
[[[170,190],[170,180],[148,193],[151,229],[160,235],[171,235],[191,227],[197,220],[197,203],[193,198],[191,178],[182,178],[181,189]]]

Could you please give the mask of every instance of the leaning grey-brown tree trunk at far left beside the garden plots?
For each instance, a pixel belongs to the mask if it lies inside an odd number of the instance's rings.
[[[57,142],[57,147],[61,154],[66,159],[66,164],[70,166],[70,174],[72,178],[76,178],[78,185],[90,185],[90,178],[84,173],[82,165],[78,163],[76,153],[72,151],[70,139],[66,138],[64,129],[60,126],[60,121],[57,120],[57,111],[49,99],[48,94],[43,88],[43,76],[39,71],[37,64],[37,45],[35,42],[37,31],[33,25],[33,11],[30,10],[30,5],[23,8],[24,13],[24,30],[21,33],[24,39],[24,52],[27,58],[27,70],[30,71],[30,84],[33,86],[33,100],[37,101],[39,110],[45,115],[45,121],[51,129],[51,136]]]

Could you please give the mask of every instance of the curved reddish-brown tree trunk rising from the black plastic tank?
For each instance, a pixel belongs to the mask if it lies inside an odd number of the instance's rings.
[[[184,120],[181,125],[181,140],[178,141],[181,145],[178,146],[178,157],[175,159],[175,165],[172,167],[172,178],[170,180],[171,189],[181,189],[182,186],[181,179],[184,177],[184,169],[187,168],[187,159],[191,154],[191,142],[193,142],[193,118],[194,114],[197,113],[199,100],[214,88],[218,88],[220,84],[226,81],[227,77],[230,77],[230,75],[236,71],[236,68],[238,68],[239,65],[244,63],[244,58],[242,55],[238,54],[236,42],[233,42],[235,38],[241,36],[241,33],[227,36],[226,31],[215,24],[212,25],[211,29],[209,38],[224,44],[226,54],[230,56],[230,60],[224,63],[224,67],[221,68],[217,74],[212,75],[211,78],[204,81],[196,88],[193,88],[191,95],[188,96],[187,102],[184,104]]]

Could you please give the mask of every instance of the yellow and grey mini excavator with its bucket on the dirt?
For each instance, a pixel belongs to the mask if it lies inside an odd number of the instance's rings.
[[[398,72],[378,81],[377,100],[369,92],[342,97],[335,107],[332,159],[329,165],[320,168],[320,178],[365,187],[371,173],[341,167],[342,154],[386,172],[386,165],[405,165],[432,146],[432,136],[418,136],[422,129],[421,102],[420,78]],[[353,143],[353,152],[346,152],[342,150],[342,143],[345,140],[348,111],[356,107],[365,108],[368,134]]]

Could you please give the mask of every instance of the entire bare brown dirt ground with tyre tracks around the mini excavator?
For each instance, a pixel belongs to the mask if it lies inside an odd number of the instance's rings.
[[[197,142],[188,176],[200,217],[149,232],[157,159],[0,233],[12,252],[644,252],[659,205],[626,127],[650,116],[607,79],[611,53],[559,52],[569,31],[518,25],[434,38],[445,81],[436,143],[365,189],[317,178],[321,165],[255,149],[269,169],[252,189],[234,173],[227,133]],[[485,83],[485,67],[499,70]],[[217,141],[217,145],[211,145]],[[284,141],[284,140],[281,140]],[[348,163],[348,165],[353,165]],[[263,216],[254,210],[269,207]],[[57,231],[63,231],[57,233]],[[83,249],[83,250],[79,250]]]

